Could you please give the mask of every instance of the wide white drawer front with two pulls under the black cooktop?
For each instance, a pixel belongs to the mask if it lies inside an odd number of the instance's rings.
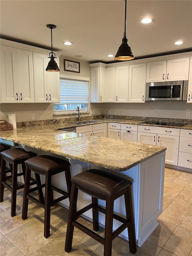
[[[148,125],[138,125],[138,131],[165,134],[165,135],[174,135],[174,136],[179,136],[180,134],[180,129],[156,127],[156,126],[148,126]]]

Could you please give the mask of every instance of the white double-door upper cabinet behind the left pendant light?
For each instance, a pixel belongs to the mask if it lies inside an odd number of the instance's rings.
[[[57,59],[55,61],[58,64]],[[59,72],[47,72],[48,62],[46,54],[33,53],[35,102],[59,103]]]

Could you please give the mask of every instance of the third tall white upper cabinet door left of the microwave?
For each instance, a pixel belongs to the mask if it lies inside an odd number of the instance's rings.
[[[106,102],[115,102],[115,67],[106,68]]]

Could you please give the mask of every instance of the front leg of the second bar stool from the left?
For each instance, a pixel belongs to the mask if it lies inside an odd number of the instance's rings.
[[[16,215],[17,167],[18,167],[18,164],[13,162],[12,191],[11,191],[11,217],[14,217]]]

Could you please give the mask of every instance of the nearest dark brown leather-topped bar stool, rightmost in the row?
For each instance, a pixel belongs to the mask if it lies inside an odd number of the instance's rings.
[[[136,238],[135,238],[135,225],[133,206],[131,198],[131,185],[132,182],[116,176],[112,173],[103,172],[97,169],[91,169],[79,173],[72,177],[71,197],[69,216],[67,223],[67,234],[65,240],[65,251],[69,252],[72,248],[73,230],[77,227],[85,234],[91,236],[98,242],[104,245],[104,256],[110,256],[112,252],[112,240],[118,236],[125,228],[128,228],[129,236],[129,249],[130,252],[135,254]],[[88,194],[92,198],[92,203],[85,206],[83,209],[76,211],[78,190]],[[126,218],[113,213],[114,200],[124,195]],[[106,208],[98,206],[98,199],[106,201]],[[81,214],[92,208],[93,213],[93,230],[97,231],[98,212],[105,213],[105,238],[99,236],[92,230],[84,227],[76,221]],[[113,218],[122,222],[123,224],[113,232]]]

